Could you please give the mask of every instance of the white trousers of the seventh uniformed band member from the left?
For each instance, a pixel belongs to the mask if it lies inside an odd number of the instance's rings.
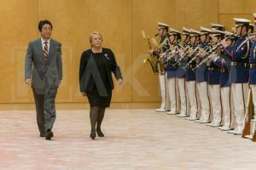
[[[224,114],[224,127],[231,127],[232,123],[232,106],[231,105],[231,89],[230,87],[220,88],[221,102]]]

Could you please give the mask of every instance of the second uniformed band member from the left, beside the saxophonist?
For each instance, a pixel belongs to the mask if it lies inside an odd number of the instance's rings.
[[[166,111],[169,115],[176,115],[180,111],[180,99],[179,90],[177,86],[177,66],[175,66],[175,58],[180,48],[178,42],[180,40],[180,32],[169,28],[169,42],[170,42],[170,52],[167,54],[167,91],[169,92],[169,97],[171,101],[170,111]]]

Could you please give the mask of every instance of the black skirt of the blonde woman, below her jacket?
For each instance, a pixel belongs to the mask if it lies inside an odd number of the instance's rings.
[[[89,100],[90,106],[99,106],[100,108],[109,107],[112,97],[112,92],[108,92],[108,96],[100,96],[98,91],[95,89],[91,92],[87,92],[87,98]]]

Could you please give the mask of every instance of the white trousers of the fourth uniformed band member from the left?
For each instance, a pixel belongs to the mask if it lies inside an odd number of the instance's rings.
[[[189,94],[190,117],[195,118],[201,110],[199,105],[200,100],[197,95],[198,92],[195,86],[195,81],[189,81],[186,82],[186,84]]]

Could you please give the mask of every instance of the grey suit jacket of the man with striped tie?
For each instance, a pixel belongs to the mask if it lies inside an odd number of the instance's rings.
[[[29,42],[25,61],[26,79],[32,79],[32,88],[58,88],[62,79],[60,42],[50,39],[47,61],[44,60],[41,38]]]

